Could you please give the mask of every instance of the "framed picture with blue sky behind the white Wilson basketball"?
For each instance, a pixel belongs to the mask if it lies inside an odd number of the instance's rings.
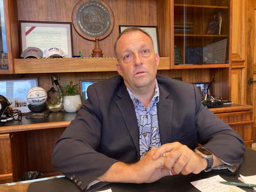
[[[5,96],[12,109],[18,109],[21,113],[28,113],[27,91],[37,86],[37,78],[0,79],[0,95]]]

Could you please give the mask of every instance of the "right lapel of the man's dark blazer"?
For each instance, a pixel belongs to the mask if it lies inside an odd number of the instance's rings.
[[[173,113],[173,100],[166,99],[168,92],[160,85],[159,102],[157,103],[158,127],[160,132],[161,144],[171,142],[171,121]]]

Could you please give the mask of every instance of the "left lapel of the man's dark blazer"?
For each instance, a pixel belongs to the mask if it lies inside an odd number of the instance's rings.
[[[125,84],[122,84],[117,92],[117,96],[121,99],[117,100],[115,103],[119,108],[128,131],[131,134],[135,148],[137,150],[138,160],[140,159],[140,148],[139,148],[139,128],[135,110],[133,107],[133,102],[127,92]]]

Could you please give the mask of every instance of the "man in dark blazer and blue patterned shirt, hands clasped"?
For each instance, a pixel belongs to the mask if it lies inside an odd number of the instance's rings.
[[[156,75],[159,56],[148,34],[123,31],[115,54],[120,76],[89,86],[88,99],[56,142],[52,163],[60,172],[84,190],[237,170],[243,140],[200,103],[195,85]],[[209,157],[193,151],[198,143]]]

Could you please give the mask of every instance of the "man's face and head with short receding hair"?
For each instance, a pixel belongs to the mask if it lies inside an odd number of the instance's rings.
[[[126,33],[116,45],[118,73],[131,90],[151,88],[155,84],[159,56],[150,38],[141,31]]]

